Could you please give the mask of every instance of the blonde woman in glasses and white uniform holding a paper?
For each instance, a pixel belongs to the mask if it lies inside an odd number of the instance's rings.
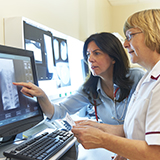
[[[125,22],[124,47],[147,73],[132,95],[124,125],[76,122],[72,131],[84,148],[105,148],[130,160],[160,159],[159,33],[160,9],[137,12]]]

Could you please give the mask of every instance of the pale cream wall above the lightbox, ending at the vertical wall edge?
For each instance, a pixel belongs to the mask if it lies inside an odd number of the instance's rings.
[[[75,0],[0,0],[0,35],[3,18],[23,16],[74,37],[79,37],[79,1]],[[74,22],[74,23],[73,23]],[[3,43],[0,36],[0,43]]]

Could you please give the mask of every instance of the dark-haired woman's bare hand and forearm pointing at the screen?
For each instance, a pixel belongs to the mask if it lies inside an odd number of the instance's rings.
[[[22,86],[21,92],[29,97],[37,97],[37,100],[42,108],[42,111],[45,115],[51,119],[54,114],[54,107],[51,104],[50,100],[48,99],[45,92],[39,88],[38,86],[34,85],[33,83],[25,83],[25,82],[13,82],[14,85]]]

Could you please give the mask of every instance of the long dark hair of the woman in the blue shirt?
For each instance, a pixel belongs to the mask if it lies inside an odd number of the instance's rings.
[[[121,102],[129,95],[133,84],[133,81],[130,80],[127,75],[129,72],[129,59],[122,43],[112,33],[102,32],[91,35],[87,38],[83,47],[83,57],[86,63],[88,61],[86,52],[88,44],[91,41],[94,41],[104,53],[108,54],[115,60],[113,69],[113,83],[118,85],[120,89],[120,96],[117,101]],[[92,73],[88,71],[87,80],[82,86],[83,91],[88,95],[88,99],[91,103],[94,99],[98,98],[97,83],[99,78],[100,77],[98,76],[93,76]]]

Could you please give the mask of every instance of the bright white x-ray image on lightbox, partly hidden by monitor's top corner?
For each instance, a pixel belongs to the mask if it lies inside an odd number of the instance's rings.
[[[31,50],[34,52],[36,63],[42,63],[41,43],[25,39],[25,45],[27,50]]]

